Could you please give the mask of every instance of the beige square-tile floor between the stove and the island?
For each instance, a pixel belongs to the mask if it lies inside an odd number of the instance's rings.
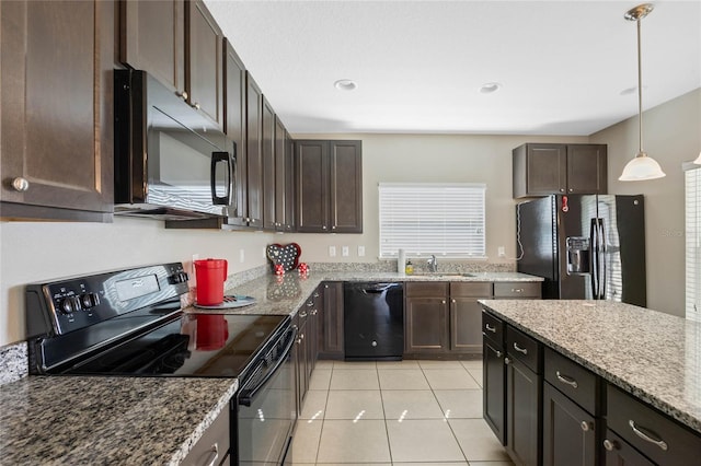
[[[318,361],[292,463],[513,466],[482,419],[482,361]]]

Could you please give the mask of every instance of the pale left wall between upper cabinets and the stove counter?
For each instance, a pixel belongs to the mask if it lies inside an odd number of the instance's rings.
[[[0,346],[24,339],[24,286],[73,275],[168,261],[192,255],[229,260],[229,273],[265,264],[272,234],[165,230],[163,222],[0,222]],[[244,261],[240,261],[243,251]],[[188,265],[188,264],[187,264]]]

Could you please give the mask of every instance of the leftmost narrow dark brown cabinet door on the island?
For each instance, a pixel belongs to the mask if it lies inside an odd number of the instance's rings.
[[[483,383],[482,391],[484,420],[496,438],[506,442],[506,371],[504,369],[504,347],[484,338],[482,348]]]

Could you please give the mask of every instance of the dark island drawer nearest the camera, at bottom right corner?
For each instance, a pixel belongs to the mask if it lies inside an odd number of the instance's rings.
[[[660,466],[699,462],[701,435],[611,385],[607,386],[607,423]]]

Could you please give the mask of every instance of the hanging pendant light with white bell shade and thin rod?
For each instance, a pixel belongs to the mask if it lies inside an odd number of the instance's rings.
[[[637,123],[639,123],[639,151],[633,160],[625,164],[623,173],[618,178],[621,182],[641,182],[665,176],[659,164],[643,151],[643,77],[641,65],[640,22],[653,11],[651,3],[640,4],[629,10],[623,18],[637,23]]]

